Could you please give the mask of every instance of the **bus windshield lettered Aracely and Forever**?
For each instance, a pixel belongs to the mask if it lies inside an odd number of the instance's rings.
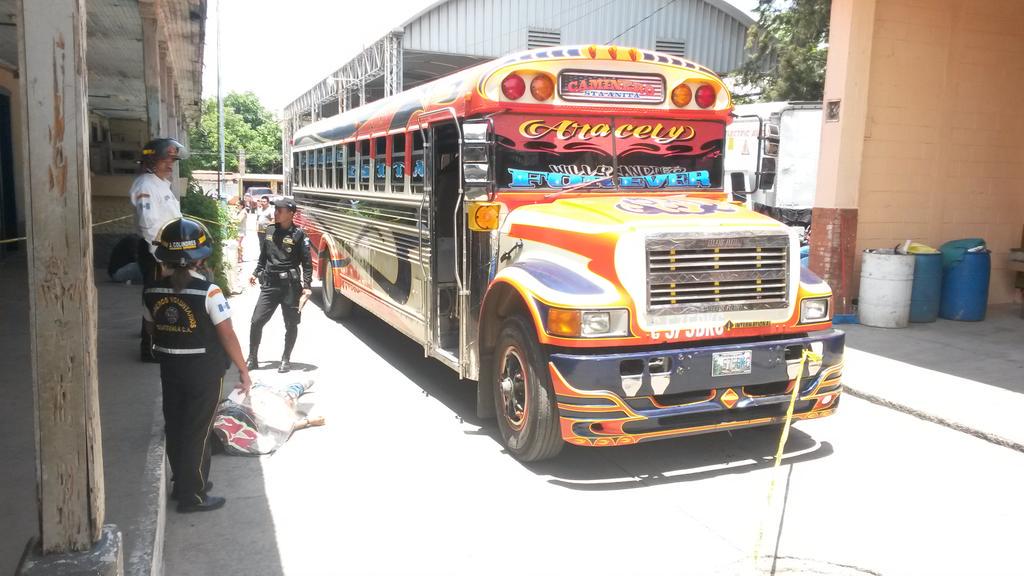
[[[717,121],[507,114],[495,118],[495,133],[500,190],[722,187],[725,124]]]

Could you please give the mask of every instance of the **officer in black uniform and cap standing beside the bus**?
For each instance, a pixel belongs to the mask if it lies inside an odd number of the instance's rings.
[[[273,222],[266,229],[266,237],[259,247],[259,262],[249,284],[260,282],[259,300],[253,311],[249,328],[249,369],[259,369],[259,342],[263,326],[281,305],[285,317],[285,353],[281,356],[278,372],[291,369],[292,348],[299,335],[299,301],[308,298],[313,280],[309,238],[295,225],[295,201],[279,198],[273,201]],[[301,272],[299,268],[301,266]]]

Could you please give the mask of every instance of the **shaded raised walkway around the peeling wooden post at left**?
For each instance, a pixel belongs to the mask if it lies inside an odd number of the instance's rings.
[[[124,536],[126,574],[150,574],[163,544],[163,417],[155,364],[138,361],[141,287],[96,270],[106,523]],[[0,573],[14,572],[39,530],[25,257],[0,260]]]

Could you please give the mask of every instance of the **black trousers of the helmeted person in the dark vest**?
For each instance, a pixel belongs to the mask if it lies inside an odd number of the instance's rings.
[[[210,433],[220,402],[223,362],[207,355],[160,357],[164,431],[174,493],[179,502],[202,503],[210,480]]]

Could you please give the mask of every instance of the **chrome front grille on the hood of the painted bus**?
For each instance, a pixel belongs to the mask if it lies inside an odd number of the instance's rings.
[[[750,233],[647,238],[652,315],[784,308],[790,238]]]

